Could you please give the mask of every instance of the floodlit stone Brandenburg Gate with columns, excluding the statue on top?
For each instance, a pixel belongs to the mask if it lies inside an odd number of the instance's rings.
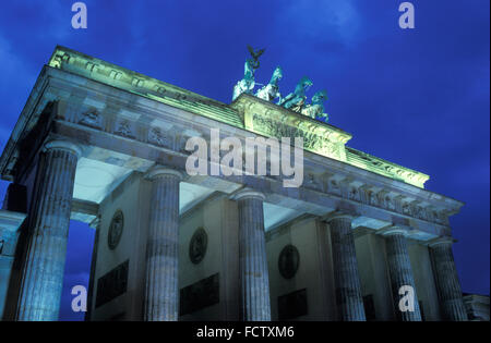
[[[185,143],[211,128],[302,137],[302,186],[188,175]],[[96,230],[91,320],[465,320],[448,224],[463,204],[350,138],[253,96],[227,105],[57,47],[0,158],[13,185],[3,318],[58,318],[73,219]]]

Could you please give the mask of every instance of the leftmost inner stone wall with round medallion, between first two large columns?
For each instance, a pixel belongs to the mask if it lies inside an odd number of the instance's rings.
[[[148,221],[148,182],[139,173],[132,174],[121,183],[100,204],[100,234],[97,247],[97,261],[94,282],[94,304],[99,303],[93,311],[93,320],[141,320],[145,275],[145,242]],[[112,218],[117,211],[123,215],[123,230],[119,243],[111,249],[108,235]],[[125,292],[110,301],[98,301],[105,297],[98,286],[101,277],[118,270],[118,267],[128,261],[128,275]],[[121,267],[120,267],[121,268]],[[115,282],[121,283],[122,277]],[[113,285],[112,285],[113,287]],[[110,292],[106,290],[105,292]],[[112,295],[113,296],[113,295]],[[111,297],[111,295],[109,295]]]

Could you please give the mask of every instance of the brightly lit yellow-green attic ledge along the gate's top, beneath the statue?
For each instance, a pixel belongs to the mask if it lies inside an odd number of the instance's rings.
[[[345,148],[345,144],[351,138],[351,135],[340,128],[286,110],[256,97],[241,95],[228,106],[60,46],[55,49],[48,65],[266,136],[278,136],[278,134],[290,134],[290,137],[291,134],[302,136],[306,150],[417,187],[423,188],[424,182],[429,180],[427,174],[385,161],[367,152],[349,147]],[[260,115],[260,118],[256,118],[254,125],[254,117],[256,115]],[[275,120],[273,126],[260,124],[261,121],[270,121],[272,117],[278,119]],[[279,122],[282,123],[279,124]],[[277,132],[273,133],[271,127],[280,127],[280,130],[275,128]]]

